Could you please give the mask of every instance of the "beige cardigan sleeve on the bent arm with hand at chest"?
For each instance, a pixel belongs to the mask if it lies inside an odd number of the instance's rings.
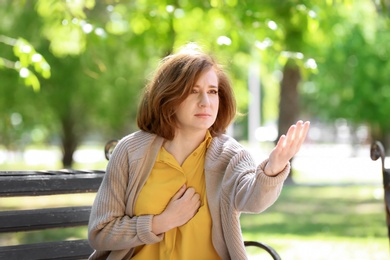
[[[126,189],[135,167],[129,163],[125,142],[119,142],[107,165],[106,175],[97,192],[88,225],[88,239],[96,250],[122,250],[162,240],[152,230],[152,215],[126,213]]]

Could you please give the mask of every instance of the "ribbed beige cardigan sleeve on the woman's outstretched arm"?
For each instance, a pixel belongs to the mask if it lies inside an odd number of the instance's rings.
[[[279,197],[290,164],[276,176],[264,173],[268,159],[256,166],[252,155],[235,139],[213,138],[207,155],[209,185],[220,187],[220,195],[237,212],[260,213]],[[217,189],[219,190],[219,189]]]

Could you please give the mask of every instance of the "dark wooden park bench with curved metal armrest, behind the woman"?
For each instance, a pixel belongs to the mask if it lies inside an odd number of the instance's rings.
[[[109,144],[109,143],[108,143]],[[114,144],[116,144],[114,142]],[[107,159],[112,143],[105,146]],[[0,171],[0,198],[97,192],[104,171]],[[0,233],[87,226],[91,205],[0,211]],[[281,259],[270,246],[245,241]],[[87,239],[0,246],[0,259],[87,259],[93,252]]]

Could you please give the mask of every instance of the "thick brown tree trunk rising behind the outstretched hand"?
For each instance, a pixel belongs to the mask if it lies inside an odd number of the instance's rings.
[[[294,60],[287,61],[283,69],[283,78],[280,84],[280,103],[278,121],[278,139],[287,133],[289,127],[296,123],[299,115],[298,84],[301,80],[301,73]],[[291,159],[292,161],[292,159]],[[293,171],[288,176],[287,182],[292,183]]]

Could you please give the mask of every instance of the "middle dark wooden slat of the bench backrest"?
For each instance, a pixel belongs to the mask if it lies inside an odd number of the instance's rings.
[[[0,233],[87,225],[90,212],[91,206],[3,211]]]

